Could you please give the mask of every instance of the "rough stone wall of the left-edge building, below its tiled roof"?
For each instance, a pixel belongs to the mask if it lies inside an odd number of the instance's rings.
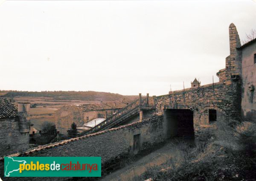
[[[0,119],[0,156],[29,148],[29,133],[20,133],[18,118]]]

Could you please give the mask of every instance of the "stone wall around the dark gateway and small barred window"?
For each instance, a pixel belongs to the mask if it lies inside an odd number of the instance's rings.
[[[225,85],[223,82],[174,91],[169,95],[157,96],[156,113],[163,115],[164,109],[191,109],[194,114],[195,133],[209,125],[209,109],[217,111],[217,120],[229,122],[237,119],[237,84]],[[231,120],[231,121],[230,121]]]

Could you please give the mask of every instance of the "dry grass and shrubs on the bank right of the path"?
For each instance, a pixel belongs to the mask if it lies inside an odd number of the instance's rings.
[[[179,144],[180,154],[166,168],[148,167],[134,181],[255,181],[256,124],[243,122],[228,127],[219,122],[216,136],[195,147]]]

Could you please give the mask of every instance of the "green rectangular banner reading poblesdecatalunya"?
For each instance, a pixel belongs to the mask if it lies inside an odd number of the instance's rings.
[[[68,164],[70,168],[77,168],[79,162],[82,164],[97,164],[97,170],[85,166],[85,170],[22,170],[20,173],[20,164]],[[70,162],[72,166],[70,167]],[[67,167],[67,165],[62,166]],[[94,167],[96,169],[96,167]],[[4,176],[5,177],[101,177],[101,157],[5,157],[4,158]]]

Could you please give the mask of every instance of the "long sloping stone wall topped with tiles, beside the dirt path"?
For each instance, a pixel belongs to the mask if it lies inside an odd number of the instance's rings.
[[[134,135],[140,134],[140,150],[145,150],[154,144],[163,142],[163,116],[154,116],[141,122],[134,122],[124,126],[104,130],[87,136],[63,140],[17,153],[12,156],[100,156],[102,164],[118,156],[133,153]],[[0,176],[3,178],[3,159],[0,160]],[[42,180],[42,178],[29,178],[29,180]],[[59,178],[49,178],[58,180]],[[16,178],[5,178],[16,180]],[[20,177],[19,180],[28,180]]]

